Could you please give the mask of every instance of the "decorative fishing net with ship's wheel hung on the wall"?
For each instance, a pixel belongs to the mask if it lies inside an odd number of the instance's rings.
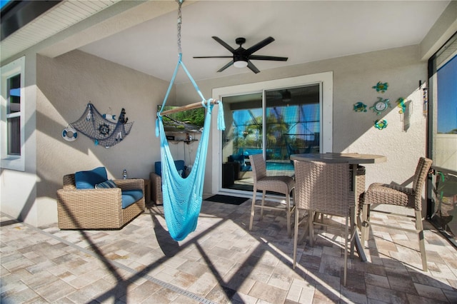
[[[81,118],[74,123],[70,123],[70,126],[91,138],[96,146],[100,145],[109,148],[116,145],[116,143],[120,143],[129,135],[130,129],[134,125],[133,121],[126,122],[128,118],[124,118],[124,113],[125,111],[121,112],[118,121],[111,121],[104,118],[92,103],[88,103],[86,111],[84,111]]]

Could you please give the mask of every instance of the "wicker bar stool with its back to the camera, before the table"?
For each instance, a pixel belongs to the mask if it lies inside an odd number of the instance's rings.
[[[344,273],[343,285],[346,285],[348,266],[348,242],[353,239],[355,229],[350,228],[351,211],[355,208],[351,191],[351,171],[348,163],[323,163],[320,161],[293,161],[295,168],[296,198],[295,225],[293,236],[293,268],[296,266],[298,243],[298,213],[300,209],[308,211],[309,243],[313,245],[314,225],[341,228],[317,221],[316,213],[345,218],[344,226]]]

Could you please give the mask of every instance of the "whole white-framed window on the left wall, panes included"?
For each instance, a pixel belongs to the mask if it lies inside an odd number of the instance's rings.
[[[24,171],[24,64],[1,68],[1,168]]]

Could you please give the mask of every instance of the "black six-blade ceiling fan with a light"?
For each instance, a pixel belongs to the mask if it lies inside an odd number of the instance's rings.
[[[270,61],[287,61],[287,57],[276,57],[276,56],[261,56],[261,55],[253,55],[254,52],[258,51],[259,49],[263,48],[267,44],[271,44],[274,41],[273,37],[268,37],[263,39],[262,41],[258,42],[258,44],[254,44],[249,49],[243,49],[242,45],[246,42],[246,39],[243,37],[237,38],[235,40],[236,44],[239,45],[238,49],[233,49],[229,44],[222,41],[219,37],[213,36],[214,40],[218,41],[219,44],[224,46],[226,49],[231,51],[233,54],[232,56],[196,56],[194,58],[232,58],[228,64],[223,66],[219,69],[218,72],[224,71],[225,69],[229,68],[229,66],[235,66],[236,68],[244,68],[247,66],[251,71],[254,73],[259,73],[260,71],[253,65],[251,60],[270,60]]]

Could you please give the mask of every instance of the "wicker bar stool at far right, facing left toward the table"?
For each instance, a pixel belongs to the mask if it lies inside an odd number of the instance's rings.
[[[391,228],[396,230],[403,230],[407,232],[413,232],[418,234],[419,248],[422,256],[422,268],[423,271],[427,271],[427,258],[426,258],[426,247],[423,240],[423,225],[422,225],[422,191],[426,183],[428,171],[431,168],[432,161],[428,158],[419,158],[418,165],[416,167],[416,173],[414,174],[413,187],[403,187],[397,185],[388,185],[385,183],[372,183],[364,196],[363,199],[363,211],[362,211],[362,245],[365,245],[366,236],[368,233],[369,226],[380,226],[383,228]],[[405,208],[414,209],[414,218],[416,221],[416,229],[402,228],[401,226],[388,226],[381,223],[372,223],[368,216],[368,208],[370,205],[396,205],[403,206]],[[370,212],[373,212],[370,211]],[[403,216],[396,214],[396,216]]]

